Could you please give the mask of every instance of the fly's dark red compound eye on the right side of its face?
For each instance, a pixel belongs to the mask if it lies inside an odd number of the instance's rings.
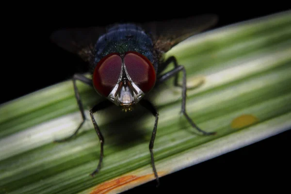
[[[129,51],[124,57],[126,70],[131,80],[144,92],[149,92],[155,85],[156,72],[154,66],[142,54]]]

